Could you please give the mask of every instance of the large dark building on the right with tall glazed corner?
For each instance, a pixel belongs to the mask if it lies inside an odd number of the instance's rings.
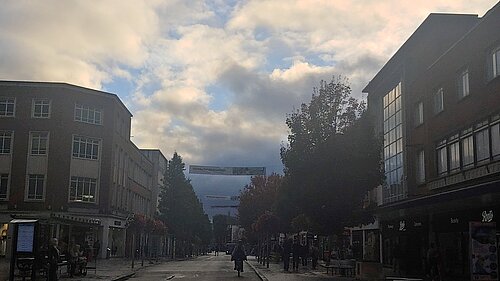
[[[500,211],[499,28],[500,4],[431,14],[364,89],[384,136],[381,262],[403,275],[425,274],[430,244],[447,278],[477,274],[471,230]]]

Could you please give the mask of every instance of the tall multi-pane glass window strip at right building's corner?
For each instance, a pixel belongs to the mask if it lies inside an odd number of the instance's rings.
[[[404,199],[403,186],[403,121],[401,84],[383,97],[384,112],[384,203]]]

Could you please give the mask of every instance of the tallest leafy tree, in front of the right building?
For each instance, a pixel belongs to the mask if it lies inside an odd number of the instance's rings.
[[[303,214],[312,230],[324,234],[353,222],[366,191],[383,179],[380,142],[364,110],[347,79],[338,77],[321,81],[310,104],[287,117],[285,181],[277,202],[282,219]]]

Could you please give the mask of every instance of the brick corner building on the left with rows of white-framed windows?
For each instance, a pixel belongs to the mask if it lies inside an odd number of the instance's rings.
[[[0,81],[0,253],[8,252],[9,221],[30,218],[40,223],[41,248],[50,237],[62,251],[99,239],[100,256],[106,248],[129,254],[127,223],[154,215],[158,182],[154,163],[130,141],[131,117],[115,94]]]

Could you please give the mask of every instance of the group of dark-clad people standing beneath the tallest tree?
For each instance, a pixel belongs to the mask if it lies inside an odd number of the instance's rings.
[[[301,245],[297,239],[285,239],[283,245],[281,245],[281,253],[283,257],[283,269],[285,271],[290,270],[290,254],[292,255],[292,266],[294,271],[299,270],[299,265],[307,266],[307,260],[311,257],[312,268],[316,269],[319,259],[319,248],[316,244],[312,244],[310,247],[306,245]],[[300,261],[300,263],[299,263]]]

